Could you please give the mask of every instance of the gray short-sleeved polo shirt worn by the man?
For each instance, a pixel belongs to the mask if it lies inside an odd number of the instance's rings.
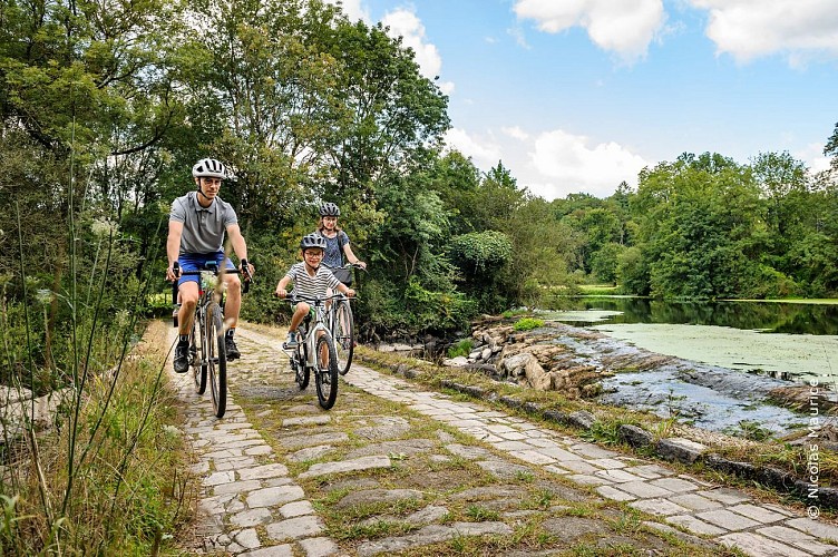
[[[197,192],[172,202],[169,221],[184,223],[181,235],[181,253],[216,253],[224,248],[224,232],[231,224],[238,223],[233,207],[215,197],[208,207],[202,207],[195,196]]]

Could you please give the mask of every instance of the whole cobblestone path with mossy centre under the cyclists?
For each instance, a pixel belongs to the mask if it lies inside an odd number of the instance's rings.
[[[174,342],[175,332],[169,332]],[[353,365],[331,411],[242,329],[226,416],[169,374],[203,479],[193,554],[838,555],[838,527]],[[587,553],[585,553],[587,551]]]

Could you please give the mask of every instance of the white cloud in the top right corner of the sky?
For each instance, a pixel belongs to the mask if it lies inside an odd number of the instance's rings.
[[[718,53],[737,61],[785,53],[792,66],[807,58],[838,57],[834,0],[690,0],[710,11],[707,36]]]

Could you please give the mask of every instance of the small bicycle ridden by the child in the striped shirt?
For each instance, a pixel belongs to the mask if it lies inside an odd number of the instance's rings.
[[[308,302],[313,310],[300,324],[300,342],[296,348],[286,349],[283,345],[282,351],[291,361],[291,370],[301,391],[309,387],[311,371],[314,371],[318,402],[323,410],[332,408],[338,399],[338,355],[332,333],[327,326],[325,303],[338,300],[341,295],[309,297],[298,294],[285,299],[292,306],[299,302]]]

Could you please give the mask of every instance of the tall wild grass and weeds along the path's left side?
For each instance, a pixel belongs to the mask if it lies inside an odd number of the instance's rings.
[[[174,394],[159,382],[165,348],[140,344],[137,359],[126,361],[118,374],[91,378],[72,408],[78,427],[59,416],[65,427],[38,437],[37,473],[12,468],[3,490],[13,488],[14,495],[3,498],[0,522],[6,555],[59,547],[68,555],[156,555],[174,544],[192,518],[196,486]],[[77,450],[70,453],[74,433]]]

